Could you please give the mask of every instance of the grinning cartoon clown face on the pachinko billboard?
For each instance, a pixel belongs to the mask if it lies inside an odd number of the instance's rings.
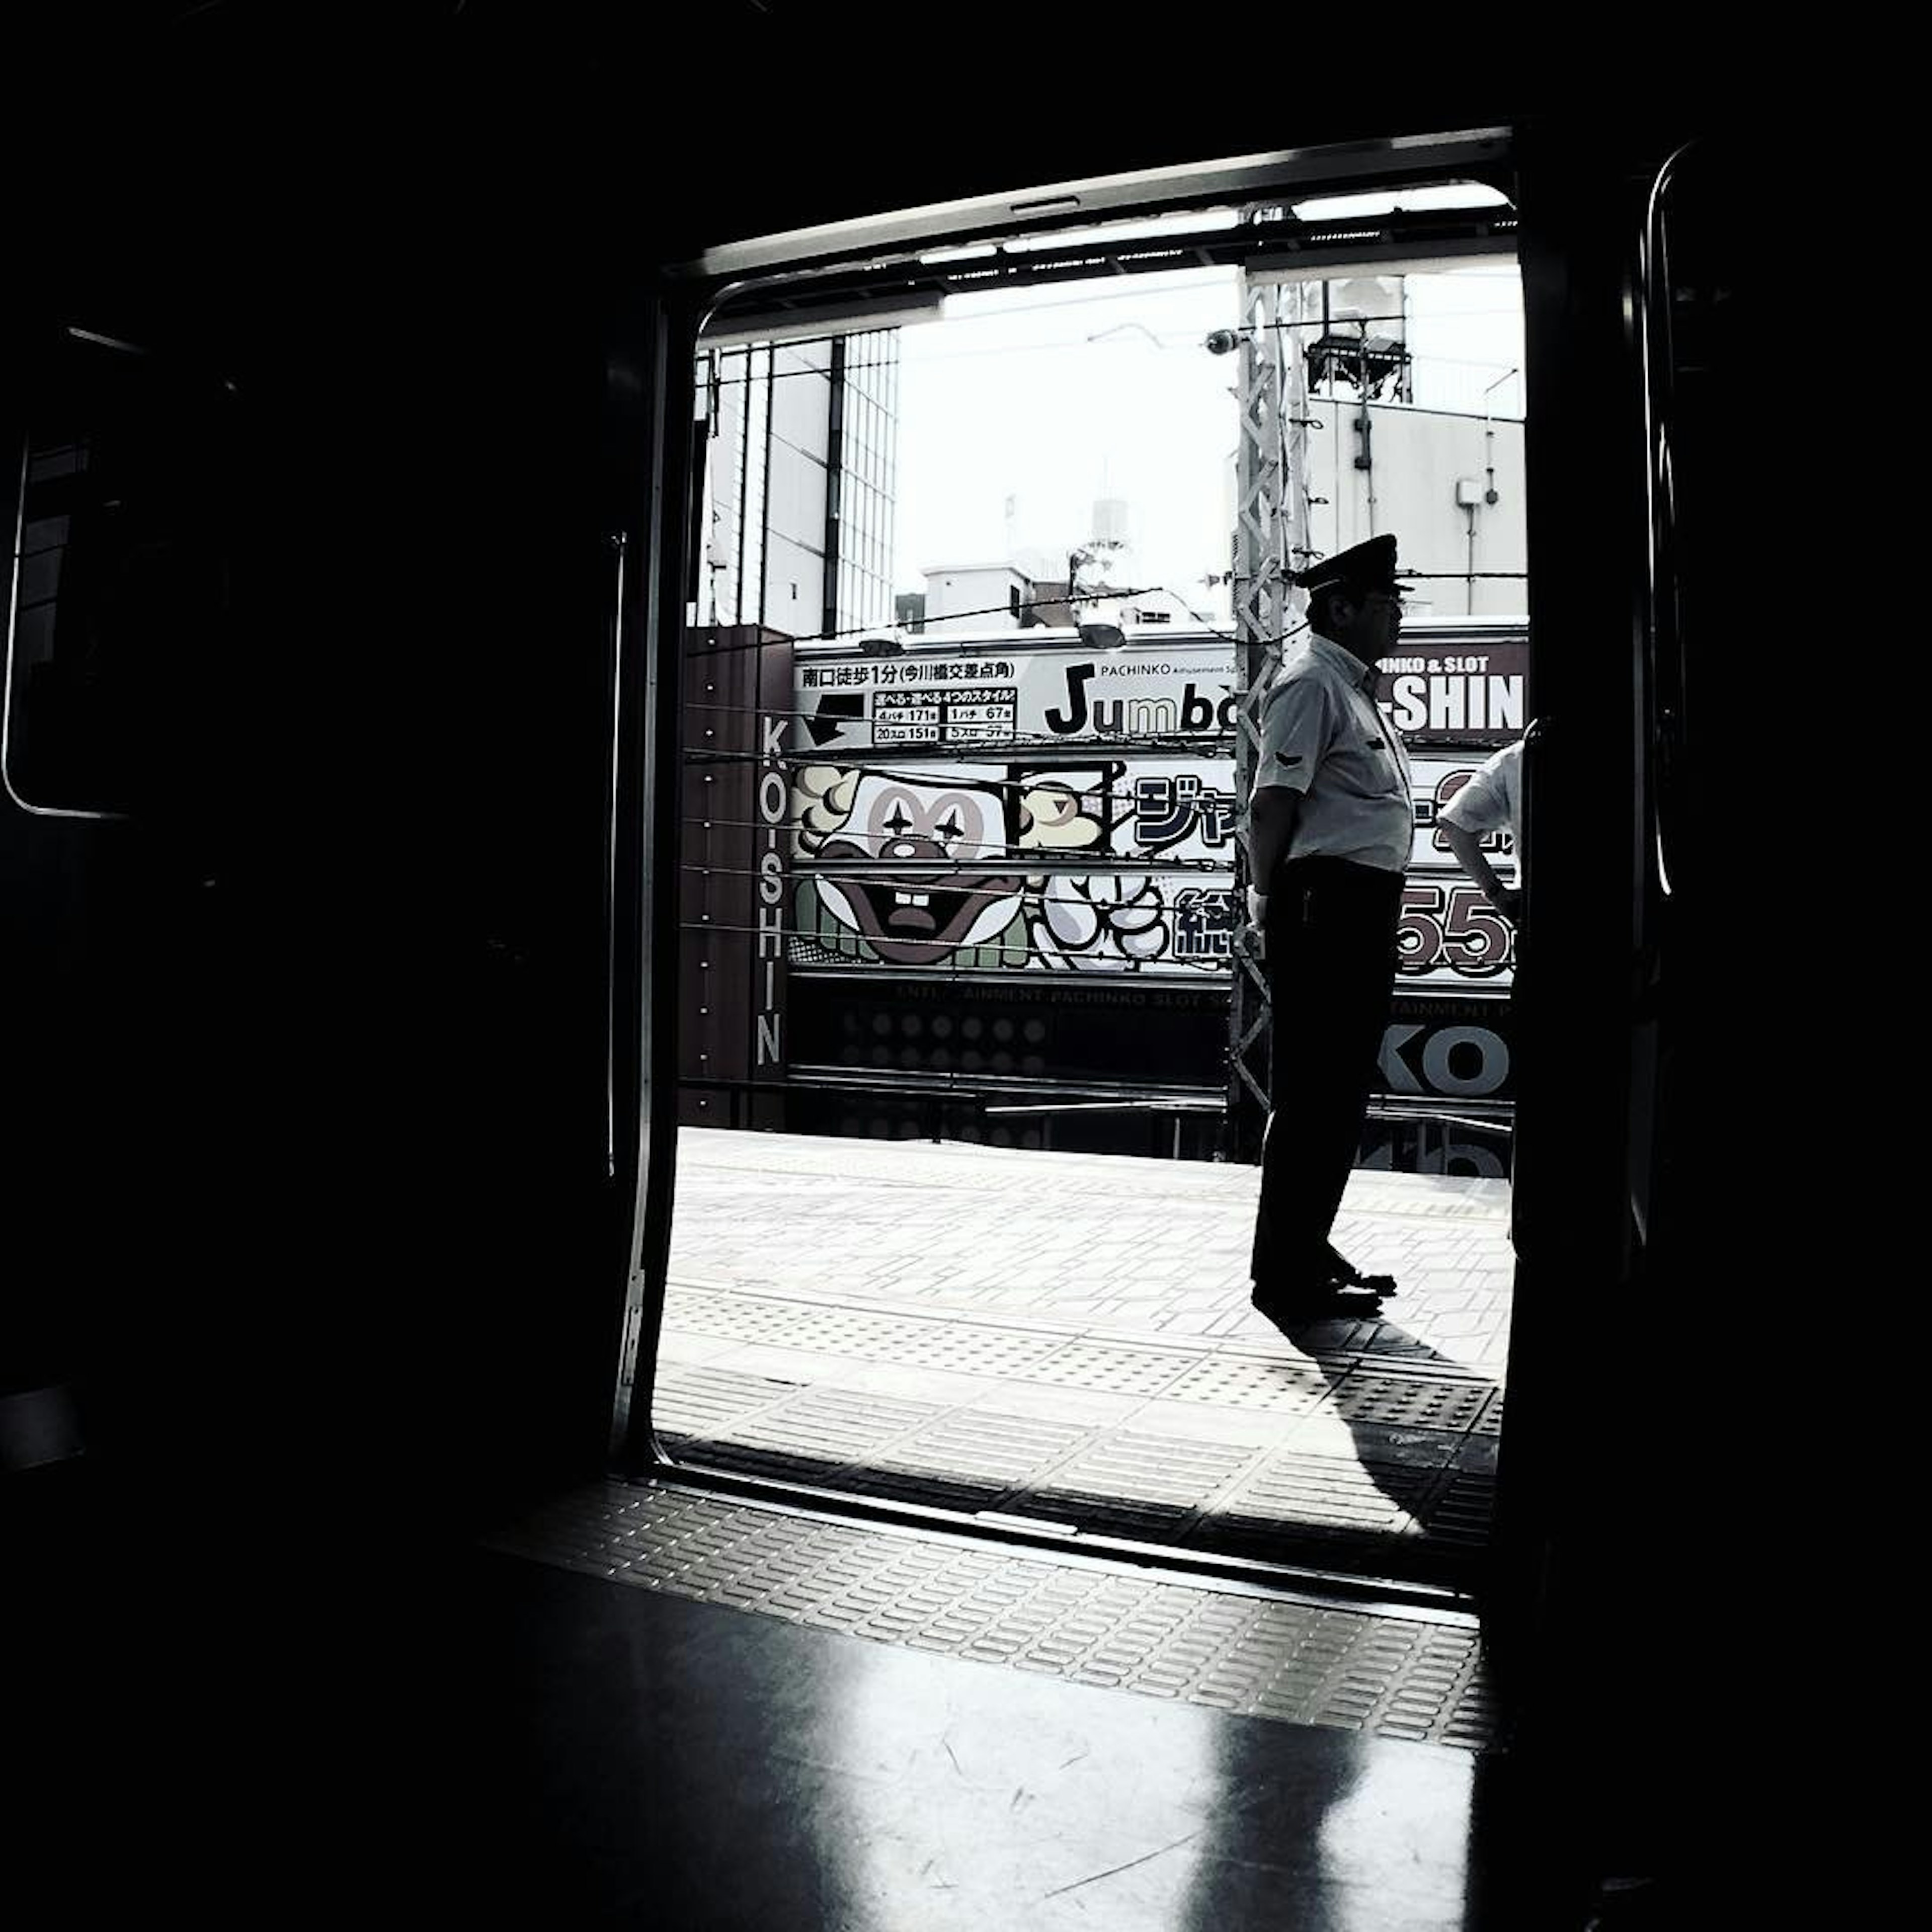
[[[991,869],[1007,852],[997,786],[923,784],[867,771],[844,827],[819,860],[893,860],[877,875],[823,871],[825,908],[862,933],[883,960],[925,966],[1003,933],[1024,881]]]

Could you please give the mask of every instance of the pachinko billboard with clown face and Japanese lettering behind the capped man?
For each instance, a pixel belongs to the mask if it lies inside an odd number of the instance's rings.
[[[1451,744],[1472,711],[1520,701],[1484,682],[1517,674],[1492,668],[1493,651],[1439,655],[1455,668],[1401,670],[1424,682],[1387,703],[1420,705]],[[1443,696],[1432,678],[1464,682]],[[800,665],[790,964],[1225,974],[1238,933],[1236,703],[1221,639]],[[1416,771],[1399,962],[1410,983],[1507,981],[1513,964],[1513,933],[1445,871],[1434,829],[1482,755]]]

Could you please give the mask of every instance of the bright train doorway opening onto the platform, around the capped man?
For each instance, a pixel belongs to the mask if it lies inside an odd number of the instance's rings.
[[[632,1466],[1470,1596],[1515,923],[1437,813],[1528,724],[1507,187],[1507,143],[1457,137],[694,269]],[[1248,1302],[1242,742],[1287,576],[1381,531],[1414,842],[1337,1236],[1401,1293],[1281,1333]]]

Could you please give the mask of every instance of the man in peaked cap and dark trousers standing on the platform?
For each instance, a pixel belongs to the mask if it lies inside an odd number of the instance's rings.
[[[1403,622],[1395,537],[1300,572],[1306,651],[1275,674],[1248,802],[1248,923],[1264,941],[1273,1092],[1254,1227],[1254,1304],[1275,1318],[1374,1310],[1395,1283],[1329,1244],[1395,981],[1408,867],[1408,753],[1376,705]]]

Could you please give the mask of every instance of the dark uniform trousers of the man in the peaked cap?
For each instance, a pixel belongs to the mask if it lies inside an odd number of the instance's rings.
[[[1327,1236],[1362,1142],[1395,981],[1403,875],[1345,858],[1275,869],[1267,893],[1271,1113],[1262,1144],[1254,1279],[1329,1275]]]

